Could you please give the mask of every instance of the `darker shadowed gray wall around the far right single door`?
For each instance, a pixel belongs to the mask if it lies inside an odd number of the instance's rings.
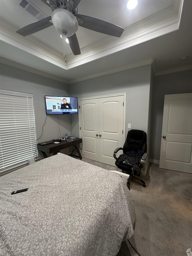
[[[151,159],[160,159],[164,96],[189,92],[192,92],[191,69],[155,77],[152,93]]]

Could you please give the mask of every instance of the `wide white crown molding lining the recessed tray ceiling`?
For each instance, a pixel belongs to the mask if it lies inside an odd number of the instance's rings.
[[[67,70],[178,29],[182,3],[183,0],[173,0],[173,5],[170,7],[125,28],[121,38],[112,39],[113,37],[106,36],[102,40],[82,48],[81,55],[74,56],[73,53],[67,55],[66,63],[61,53],[42,44],[32,35],[23,37],[17,34],[14,31],[18,28],[3,19],[1,19],[1,35],[4,35],[3,40],[7,43]],[[166,30],[161,31],[164,28]],[[156,34],[152,35],[153,32]]]

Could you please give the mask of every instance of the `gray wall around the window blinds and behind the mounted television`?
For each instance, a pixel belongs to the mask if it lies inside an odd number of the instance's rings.
[[[68,96],[68,85],[8,65],[0,65],[0,88],[34,95],[36,135],[39,142],[70,134],[70,115],[47,115],[44,96]],[[59,118],[59,120],[58,120]],[[44,125],[46,120],[46,124]],[[60,125],[59,125],[60,123]],[[43,128],[44,125],[44,128]],[[43,130],[42,130],[43,128]],[[59,131],[60,128],[60,131]]]

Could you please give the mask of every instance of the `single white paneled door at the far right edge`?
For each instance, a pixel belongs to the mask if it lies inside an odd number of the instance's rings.
[[[192,173],[192,93],[165,95],[159,167]]]

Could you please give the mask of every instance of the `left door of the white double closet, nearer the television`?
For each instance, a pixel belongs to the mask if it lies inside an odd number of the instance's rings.
[[[80,101],[80,134],[82,157],[99,161],[99,106],[98,99]]]

